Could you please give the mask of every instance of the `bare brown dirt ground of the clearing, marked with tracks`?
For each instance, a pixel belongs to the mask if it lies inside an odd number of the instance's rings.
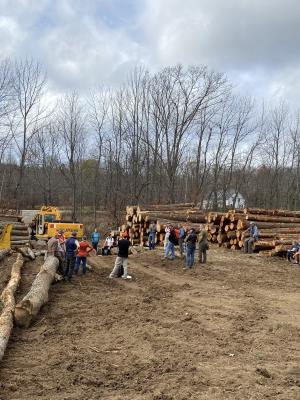
[[[88,275],[54,284],[14,331],[0,399],[300,399],[300,267],[215,247],[192,271],[161,257],[130,256],[132,281],[92,257]]]

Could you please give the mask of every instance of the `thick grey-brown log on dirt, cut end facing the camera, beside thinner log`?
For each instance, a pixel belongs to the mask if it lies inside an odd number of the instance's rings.
[[[27,295],[16,305],[15,322],[18,326],[28,327],[32,318],[40,308],[47,303],[48,293],[55,279],[58,268],[58,259],[53,256],[46,258],[40,272],[37,274]]]

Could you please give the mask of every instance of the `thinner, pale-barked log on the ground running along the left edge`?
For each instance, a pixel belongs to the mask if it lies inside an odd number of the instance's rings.
[[[21,279],[21,269],[24,264],[23,257],[18,254],[16,262],[13,264],[10,274],[10,280],[1,294],[3,304],[0,315],[0,361],[13,329],[13,313],[15,310],[15,293]]]

